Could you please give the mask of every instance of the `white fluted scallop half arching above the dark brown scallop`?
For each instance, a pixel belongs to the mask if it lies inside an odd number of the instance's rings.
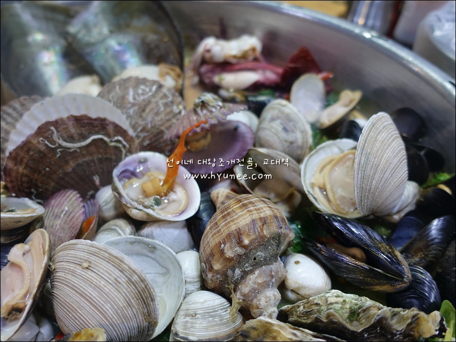
[[[53,96],[33,105],[30,110],[23,114],[14,126],[8,141],[6,154],[19,146],[37,127],[46,121],[53,121],[69,115],[85,114],[92,118],[103,117],[116,122],[129,135],[133,131],[124,115],[106,101],[83,94],[66,94]],[[2,123],[3,125],[3,123]]]

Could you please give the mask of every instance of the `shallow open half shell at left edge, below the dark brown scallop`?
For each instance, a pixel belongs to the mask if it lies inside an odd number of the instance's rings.
[[[12,212],[4,212],[4,209],[2,209],[2,213],[0,213],[0,226],[2,230],[25,226],[27,223],[42,216],[45,212],[45,208],[42,205],[25,197],[2,197],[0,201],[2,208],[5,206],[6,209],[15,209]]]

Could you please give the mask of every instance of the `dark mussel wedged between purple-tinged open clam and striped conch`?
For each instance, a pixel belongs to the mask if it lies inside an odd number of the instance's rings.
[[[186,220],[188,232],[192,235],[193,242],[195,242],[197,249],[200,249],[200,242],[204,230],[214,213],[215,205],[211,200],[210,193],[202,192],[198,211],[194,216]]]

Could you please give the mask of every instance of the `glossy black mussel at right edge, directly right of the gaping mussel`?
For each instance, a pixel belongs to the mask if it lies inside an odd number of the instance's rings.
[[[431,221],[401,250],[411,265],[433,273],[448,245],[456,235],[454,216],[447,215]]]

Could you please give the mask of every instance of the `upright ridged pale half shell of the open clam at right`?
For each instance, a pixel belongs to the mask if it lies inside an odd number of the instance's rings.
[[[387,113],[373,115],[359,138],[355,157],[355,198],[360,213],[387,215],[407,184],[407,154]]]

